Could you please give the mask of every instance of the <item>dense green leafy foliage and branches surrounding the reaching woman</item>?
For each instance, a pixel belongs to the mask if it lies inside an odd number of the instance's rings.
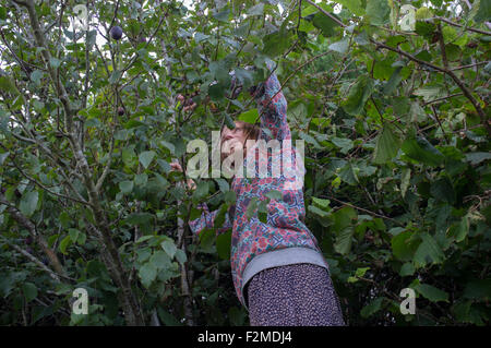
[[[346,322],[489,324],[489,1],[93,1],[86,31],[75,3],[1,0],[0,323],[248,324],[230,231],[187,227],[235,194],[170,163],[258,119],[228,72],[256,85],[270,57]]]

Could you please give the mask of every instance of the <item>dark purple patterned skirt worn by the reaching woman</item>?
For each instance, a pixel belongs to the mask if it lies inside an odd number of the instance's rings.
[[[313,264],[267,268],[248,283],[252,326],[344,326],[328,271]]]

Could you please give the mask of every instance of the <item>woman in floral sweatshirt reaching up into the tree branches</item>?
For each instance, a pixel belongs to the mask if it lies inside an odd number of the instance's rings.
[[[273,71],[271,60],[266,65]],[[232,178],[231,189],[236,192],[237,202],[227,213],[224,226],[217,229],[220,233],[232,228],[230,261],[237,296],[249,310],[253,326],[344,325],[328,265],[315,237],[303,223],[306,208],[301,185],[292,184],[299,179],[303,182],[302,166],[298,166],[301,158],[288,146],[276,153],[272,151],[268,159],[279,156],[291,160],[283,161],[285,171],[279,176],[258,175],[261,160],[258,163],[256,159],[261,151],[256,152],[259,142],[254,141],[291,143],[287,104],[276,75],[272,73],[255,88],[253,96],[261,115],[261,127],[236,121],[236,128],[224,127],[220,136],[223,159],[238,151],[243,152],[243,168],[252,164],[255,169],[252,178],[248,175]],[[285,166],[285,163],[290,166]],[[274,171],[273,164],[274,160],[267,160],[270,173]],[[177,164],[172,167],[181,170]],[[285,175],[286,171],[290,175]],[[272,191],[278,191],[280,199],[268,194]],[[266,220],[256,214],[248,218],[252,199],[270,200]],[[204,211],[201,218],[189,223],[194,233],[213,228],[218,213],[208,212],[206,205],[201,208]]]

